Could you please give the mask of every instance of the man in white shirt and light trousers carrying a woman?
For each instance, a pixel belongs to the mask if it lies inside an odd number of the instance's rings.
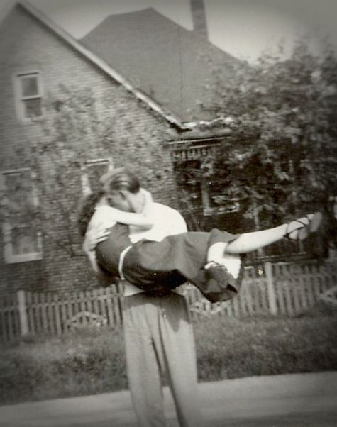
[[[123,169],[102,177],[104,189],[125,184],[124,191],[111,192],[111,204],[123,210],[142,211],[138,179]],[[125,198],[125,191],[128,197]],[[133,243],[142,239],[162,240],[184,233],[186,223],[178,211],[153,203],[154,226],[144,231],[130,227]],[[94,231],[93,231],[94,233]],[[100,243],[104,245],[107,243]],[[181,427],[202,426],[197,390],[197,362],[194,335],[184,297],[165,288],[142,292],[124,282],[123,328],[126,343],[128,384],[140,427],[163,427],[165,416],[161,374],[167,374]]]

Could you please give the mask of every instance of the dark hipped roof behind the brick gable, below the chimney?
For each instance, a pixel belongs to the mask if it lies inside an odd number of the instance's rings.
[[[152,8],[111,15],[81,42],[183,123],[211,118],[199,103],[211,103],[214,67],[229,79],[242,63]]]

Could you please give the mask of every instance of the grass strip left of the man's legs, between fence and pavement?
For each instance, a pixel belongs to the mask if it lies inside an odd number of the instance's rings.
[[[2,403],[125,389],[122,334],[87,329],[22,340],[1,351],[0,383]]]

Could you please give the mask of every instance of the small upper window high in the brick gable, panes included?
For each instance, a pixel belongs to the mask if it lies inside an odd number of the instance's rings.
[[[22,121],[42,116],[42,87],[38,72],[16,74],[16,110]]]

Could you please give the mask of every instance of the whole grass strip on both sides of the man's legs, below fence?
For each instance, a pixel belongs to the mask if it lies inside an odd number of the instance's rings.
[[[336,331],[336,310],[326,308],[297,318],[201,318],[199,380],[337,370]],[[126,388],[121,331],[86,328],[1,347],[0,404]]]

